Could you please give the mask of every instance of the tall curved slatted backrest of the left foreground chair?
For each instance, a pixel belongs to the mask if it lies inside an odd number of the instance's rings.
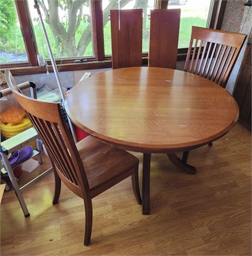
[[[19,104],[41,137],[57,173],[64,184],[75,194],[85,198],[89,192],[87,176],[73,137],[65,125],[60,104],[31,99],[17,90],[9,70],[6,81]]]

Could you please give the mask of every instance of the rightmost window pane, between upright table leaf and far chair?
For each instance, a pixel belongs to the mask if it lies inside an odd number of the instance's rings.
[[[211,2],[211,0],[169,0],[168,9],[181,9],[178,48],[189,46],[191,26],[209,26]]]

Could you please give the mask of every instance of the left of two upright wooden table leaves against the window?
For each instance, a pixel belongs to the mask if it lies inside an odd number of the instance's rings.
[[[143,9],[110,10],[113,68],[142,66]]]

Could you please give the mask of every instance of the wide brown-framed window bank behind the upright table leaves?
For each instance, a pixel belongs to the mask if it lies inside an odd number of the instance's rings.
[[[108,14],[110,9],[118,9],[119,3],[120,9],[143,9],[143,52],[148,52],[148,14],[154,8],[167,8],[168,1],[38,0],[38,3],[52,51],[58,58],[56,63],[63,63],[61,70],[67,71],[111,66],[108,61],[112,53]],[[37,55],[46,59],[49,55],[33,5],[34,0],[0,0],[0,68],[34,67],[13,70],[15,74],[46,71],[45,68],[37,68]],[[220,29],[225,5],[226,1],[221,0],[169,0],[168,8],[182,9],[179,35],[181,59],[185,57],[181,53],[186,52],[189,46],[191,26],[213,27],[217,24],[217,29]],[[85,58],[89,63],[72,65],[76,58]]]

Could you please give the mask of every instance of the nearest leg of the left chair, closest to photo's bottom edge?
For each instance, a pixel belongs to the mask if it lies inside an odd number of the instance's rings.
[[[85,238],[84,245],[88,246],[91,239],[92,233],[92,223],[93,223],[93,206],[92,200],[89,198],[87,200],[84,199],[85,206]]]

